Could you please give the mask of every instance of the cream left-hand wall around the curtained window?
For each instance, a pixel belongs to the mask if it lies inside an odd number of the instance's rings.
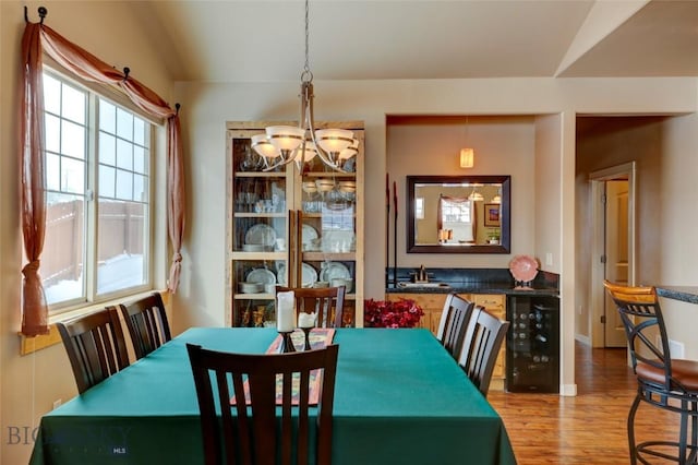
[[[20,291],[22,248],[17,148],[20,43],[24,5],[38,21],[37,8],[48,9],[45,24],[108,63],[131,68],[131,75],[166,100],[172,83],[158,52],[149,45],[145,19],[129,2],[0,1],[0,463],[26,463],[32,430],[56,400],[76,393],[62,345],[20,356]],[[137,52],[135,51],[137,50]],[[158,160],[163,165],[163,160]],[[161,251],[158,251],[161,254]],[[25,430],[26,428],[26,430]],[[28,441],[24,434],[29,432]]]

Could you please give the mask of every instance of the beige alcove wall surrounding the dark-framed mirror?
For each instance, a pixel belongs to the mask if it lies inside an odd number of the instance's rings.
[[[469,116],[465,129],[460,118],[398,118],[388,121],[386,167],[397,182],[399,212],[397,220],[397,263],[399,267],[501,267],[513,255],[534,253],[534,118],[531,116]],[[466,134],[467,132],[467,134]],[[460,147],[474,148],[474,166],[459,167]],[[368,138],[366,138],[368,139]],[[370,157],[368,154],[366,157]],[[430,175],[512,176],[512,253],[407,253],[406,252],[406,177]],[[392,188],[390,188],[392,189]],[[368,195],[366,199],[373,199]],[[385,207],[385,194],[380,199]],[[394,220],[390,211],[390,243]],[[385,216],[385,213],[383,214]],[[381,237],[385,238],[385,234]],[[378,237],[376,236],[375,240]],[[390,246],[392,248],[393,246]],[[390,266],[393,266],[390,250]],[[380,283],[378,283],[380,284]]]

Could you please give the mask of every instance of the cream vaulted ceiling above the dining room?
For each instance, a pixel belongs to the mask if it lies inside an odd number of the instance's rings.
[[[143,1],[176,81],[300,80],[301,0]],[[698,0],[311,0],[315,80],[698,76]]]

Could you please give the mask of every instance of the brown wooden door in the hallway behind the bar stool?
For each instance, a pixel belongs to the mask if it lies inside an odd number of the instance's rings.
[[[628,284],[628,181],[605,182],[605,277]],[[623,323],[615,305],[605,294],[605,347],[625,347]]]

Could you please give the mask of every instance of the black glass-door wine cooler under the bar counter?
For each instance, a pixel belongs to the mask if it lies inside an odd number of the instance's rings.
[[[559,299],[509,296],[506,390],[559,392]]]

